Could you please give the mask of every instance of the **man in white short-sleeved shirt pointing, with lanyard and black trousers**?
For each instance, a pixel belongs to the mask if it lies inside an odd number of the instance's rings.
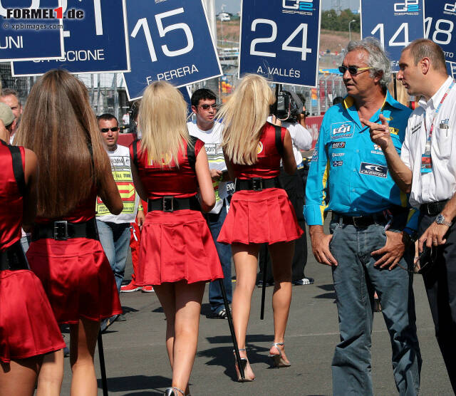
[[[419,251],[432,249],[423,279],[453,391],[456,393],[456,84],[447,75],[442,48],[420,38],[405,47],[398,80],[409,95],[421,95],[410,115],[400,157],[388,122],[371,127],[391,176],[410,204],[420,209]],[[424,264],[424,261],[422,261]]]

